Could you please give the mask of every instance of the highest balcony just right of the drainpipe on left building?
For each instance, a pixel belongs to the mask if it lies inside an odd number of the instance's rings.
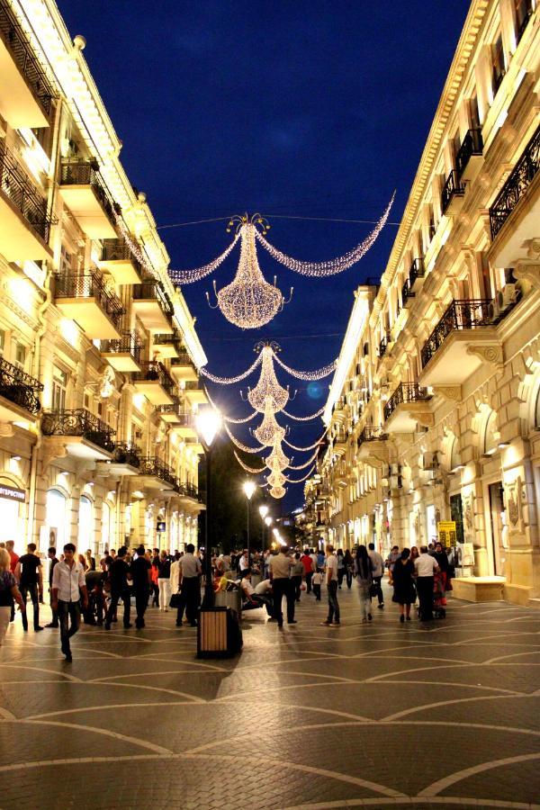
[[[64,158],[59,193],[88,238],[116,238],[114,203],[105,190],[95,160]]]

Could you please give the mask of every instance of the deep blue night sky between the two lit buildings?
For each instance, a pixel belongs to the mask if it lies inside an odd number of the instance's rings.
[[[377,220],[397,190],[392,224],[341,275],[306,278],[258,251],[267,281],[277,275],[283,293],[294,286],[293,302],[264,329],[238,330],[206,302],[212,279],[218,289],[232,279],[238,249],[214,275],[183,288],[213,374],[239,374],[262,339],[276,340],[294,368],[337,357],[356,285],[380,277],[390,253],[468,0],[58,6],[70,34],[87,40],[85,58],[123,140],[122,164],[147,193],[171,267],[206,264],[230,235],[225,220],[164,226],[244,211],[265,214],[269,240],[293,257],[339,256],[373,225],[278,215]],[[306,383],[278,377],[299,388],[288,408],[295,414],[326,400],[331,378],[308,392]],[[255,385],[257,375],[247,382]],[[239,387],[211,385],[229,416],[249,412]],[[321,431],[320,419],[293,422],[289,440],[308,445]],[[247,429],[236,432],[256,444]],[[294,455],[294,464],[308,458]],[[302,504],[302,486],[289,489],[287,508]]]

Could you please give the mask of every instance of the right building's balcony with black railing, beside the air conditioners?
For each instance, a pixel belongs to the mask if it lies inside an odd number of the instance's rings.
[[[455,385],[502,356],[488,299],[453,301],[421,351],[420,382]]]

